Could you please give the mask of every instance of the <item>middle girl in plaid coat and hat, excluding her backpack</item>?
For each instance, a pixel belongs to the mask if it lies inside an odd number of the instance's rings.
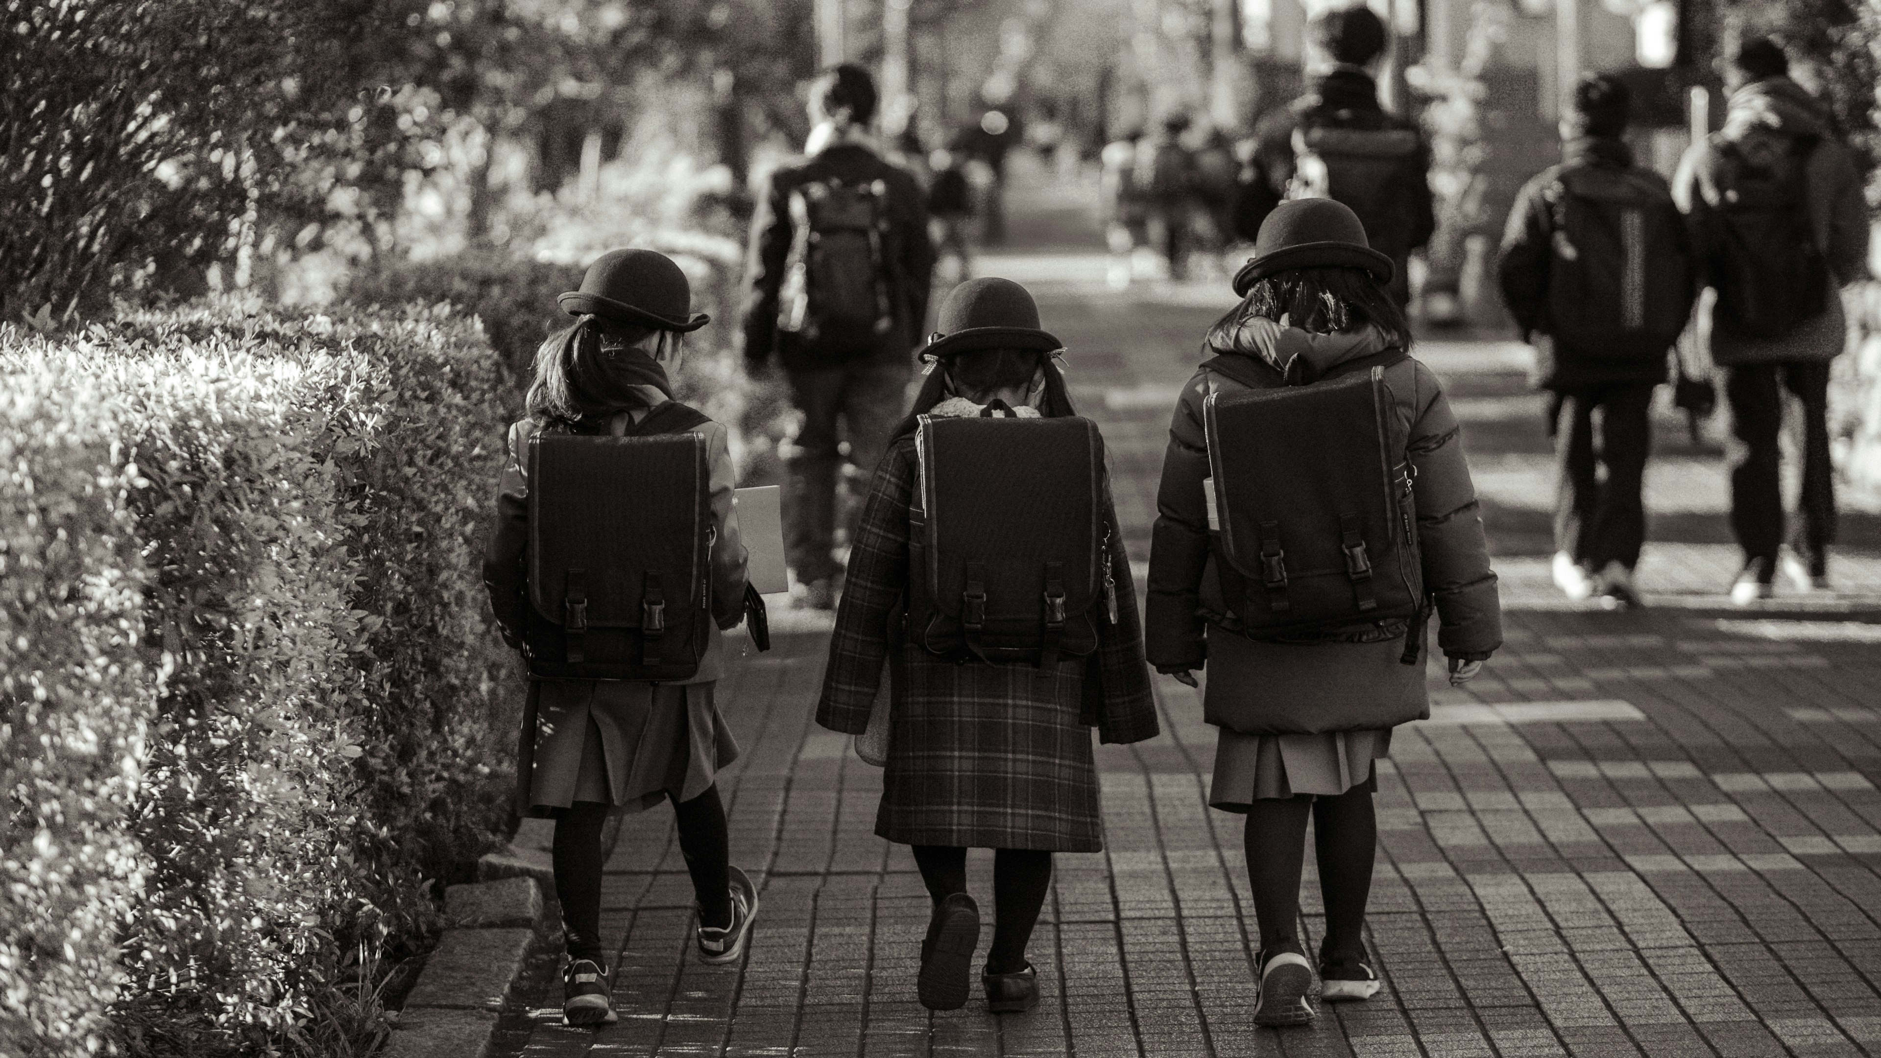
[[[888,763],[875,832],[914,846],[935,902],[922,945],[922,1004],[954,1009],[967,1002],[980,930],[978,906],[967,895],[967,849],[991,848],[999,849],[997,919],[982,983],[995,1011],[1020,1011],[1038,1002],[1025,943],[1051,883],[1051,853],[1104,848],[1087,729],[1095,725],[1104,742],[1138,742],[1157,735],[1157,714],[1108,483],[1106,558],[1119,596],[1115,624],[1097,622],[1095,654],[1040,671],[935,656],[897,631],[910,577],[922,575],[909,569],[916,417],[978,415],[995,398],[1020,417],[1072,413],[1065,378],[1051,363],[1059,342],[1038,329],[1038,310],[1020,284],[976,278],[954,288],[939,327],[944,335],[925,350],[937,366],[869,489],[816,722],[852,735],[867,731],[886,661]]]

